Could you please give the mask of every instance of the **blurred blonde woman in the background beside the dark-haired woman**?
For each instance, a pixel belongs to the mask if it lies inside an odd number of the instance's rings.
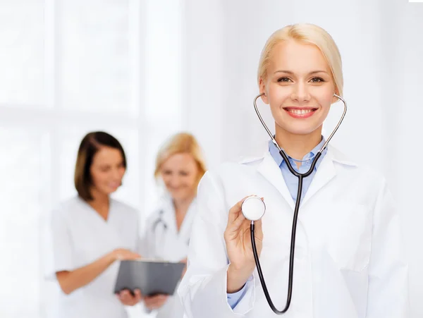
[[[205,171],[200,146],[192,135],[178,133],[161,147],[154,176],[163,181],[166,191],[147,220],[141,244],[143,257],[186,262],[192,219],[197,212],[197,185]],[[143,301],[148,310],[157,310],[157,317],[183,317],[177,295],[154,295]]]

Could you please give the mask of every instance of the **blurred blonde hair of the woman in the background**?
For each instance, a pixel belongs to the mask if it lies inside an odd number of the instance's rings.
[[[156,157],[156,169],[154,170],[154,177],[159,177],[161,165],[164,164],[164,161],[173,156],[173,154],[192,155],[198,167],[198,185],[200,179],[207,171],[206,161],[204,160],[200,145],[198,144],[197,140],[189,133],[177,133],[176,135],[171,136],[160,148]]]

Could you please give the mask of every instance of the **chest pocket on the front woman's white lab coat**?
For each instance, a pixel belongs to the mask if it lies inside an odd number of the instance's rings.
[[[338,202],[331,210],[327,243],[339,269],[363,271],[372,245],[372,213],[364,204]]]

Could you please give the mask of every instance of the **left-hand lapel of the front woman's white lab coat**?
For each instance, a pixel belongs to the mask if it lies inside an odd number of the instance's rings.
[[[286,200],[291,209],[294,209],[293,198],[290,195],[288,186],[286,185],[285,179],[282,176],[281,169],[278,167],[270,152],[264,154],[262,163],[258,166],[257,171],[264,176]]]

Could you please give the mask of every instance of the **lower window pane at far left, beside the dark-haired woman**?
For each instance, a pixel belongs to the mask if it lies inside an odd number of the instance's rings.
[[[39,220],[46,197],[42,191],[49,189],[42,166],[48,162],[47,138],[42,130],[0,128],[0,317],[39,317]]]

